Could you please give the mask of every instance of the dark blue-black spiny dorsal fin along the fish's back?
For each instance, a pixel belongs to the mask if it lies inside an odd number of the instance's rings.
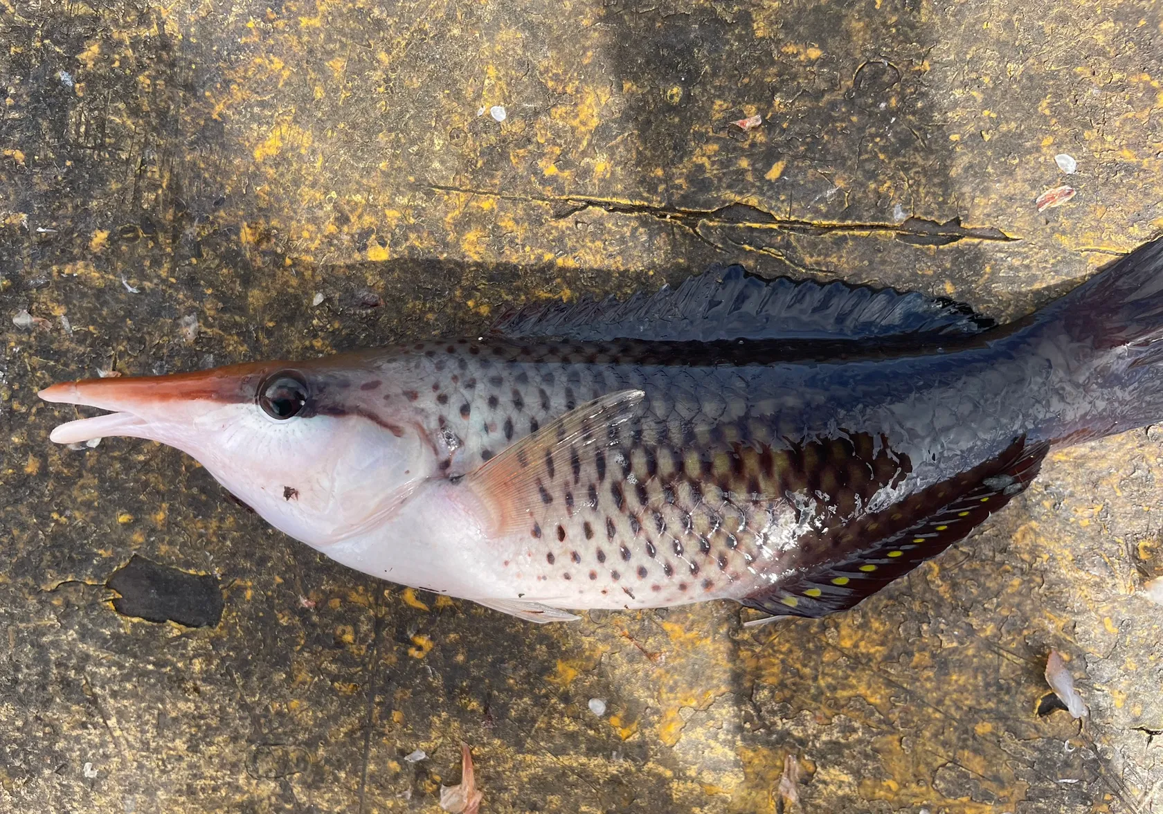
[[[625,302],[551,302],[502,315],[493,329],[507,336],[551,336],[578,342],[870,338],[923,334],[971,336],[993,327],[969,306],[892,288],[846,283],[765,280],[743,266],[715,266],[678,288],[638,292]]]

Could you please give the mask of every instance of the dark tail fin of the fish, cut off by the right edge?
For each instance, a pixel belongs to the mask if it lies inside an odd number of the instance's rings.
[[[1163,238],[1106,266],[1037,321],[1065,333],[1079,362],[1073,384],[1091,402],[1068,435],[1101,437],[1163,421]]]

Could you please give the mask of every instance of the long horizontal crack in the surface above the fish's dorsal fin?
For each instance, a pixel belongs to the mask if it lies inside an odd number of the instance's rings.
[[[948,245],[963,240],[993,241],[1009,243],[1021,240],[1004,230],[986,227],[962,226],[961,217],[951,217],[944,222],[911,215],[900,223],[887,221],[816,221],[797,217],[782,217],[751,204],[727,204],[712,209],[698,209],[647,204],[644,201],[623,200],[618,198],[598,198],[592,195],[516,195],[492,190],[475,190],[472,187],[429,184],[437,192],[452,192],[466,195],[481,195],[499,200],[545,204],[552,207],[555,220],[569,217],[585,209],[604,209],[616,214],[649,215],[666,223],[675,223],[688,229],[702,241],[707,238],[699,234],[704,226],[727,227],[755,230],[778,230],[805,235],[873,233],[892,234],[897,240],[914,245]],[[707,241],[709,242],[709,241]],[[733,241],[734,242],[734,241]]]

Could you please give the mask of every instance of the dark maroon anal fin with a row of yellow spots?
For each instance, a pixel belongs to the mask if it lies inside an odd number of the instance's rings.
[[[1019,438],[997,458],[934,484],[849,529],[857,542],[771,588],[742,599],[773,616],[826,616],[847,610],[964,540],[1037,476],[1048,442]],[[766,620],[756,620],[757,623]]]

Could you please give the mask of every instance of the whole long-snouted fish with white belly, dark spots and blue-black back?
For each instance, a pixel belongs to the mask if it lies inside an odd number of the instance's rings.
[[[53,385],[272,526],[533,621],[730,599],[850,608],[963,540],[1047,451],[1163,419],[1163,242],[1034,314],[716,267],[478,338]]]

